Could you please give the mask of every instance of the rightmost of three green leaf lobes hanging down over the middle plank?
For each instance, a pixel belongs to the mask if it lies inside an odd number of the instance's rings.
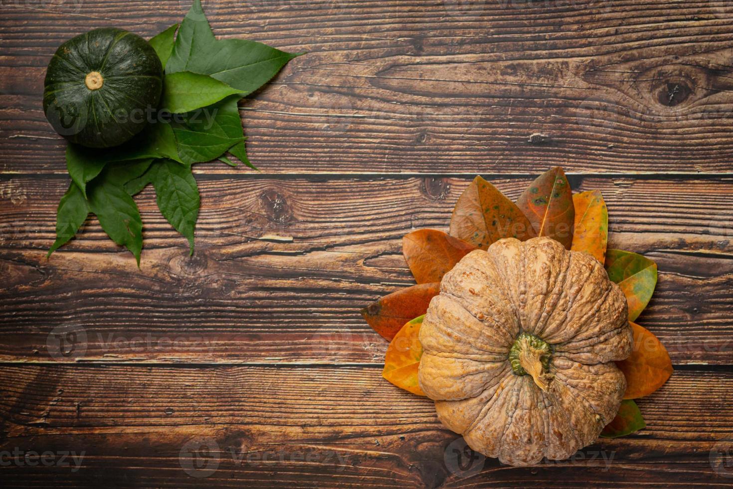
[[[185,238],[194,254],[194,229],[199,217],[199,188],[191,167],[175,161],[161,161],[152,174],[158,208],[169,223]]]

